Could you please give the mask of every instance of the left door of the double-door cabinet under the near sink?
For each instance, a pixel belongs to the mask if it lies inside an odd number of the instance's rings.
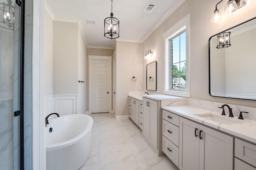
[[[199,169],[199,125],[180,117],[179,168]]]

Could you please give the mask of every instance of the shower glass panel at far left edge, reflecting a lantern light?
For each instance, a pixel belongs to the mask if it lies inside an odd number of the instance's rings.
[[[15,2],[0,0],[0,169],[13,169],[13,56]]]

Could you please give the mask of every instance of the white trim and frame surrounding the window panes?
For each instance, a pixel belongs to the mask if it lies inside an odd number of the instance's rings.
[[[168,57],[169,57],[169,39],[174,33],[186,26],[186,91],[168,90],[169,74],[168,74]],[[186,15],[182,20],[172,26],[163,34],[165,44],[165,69],[164,69],[164,94],[190,97],[190,14]]]

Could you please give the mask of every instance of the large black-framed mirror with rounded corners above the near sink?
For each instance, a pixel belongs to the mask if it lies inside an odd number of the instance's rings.
[[[209,39],[209,94],[256,100],[256,18]]]

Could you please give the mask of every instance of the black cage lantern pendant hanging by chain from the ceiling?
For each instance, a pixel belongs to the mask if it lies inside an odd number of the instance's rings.
[[[112,12],[113,0],[111,0],[111,13],[110,17],[104,20],[104,37],[109,39],[116,39],[119,37],[119,20],[114,18]]]

